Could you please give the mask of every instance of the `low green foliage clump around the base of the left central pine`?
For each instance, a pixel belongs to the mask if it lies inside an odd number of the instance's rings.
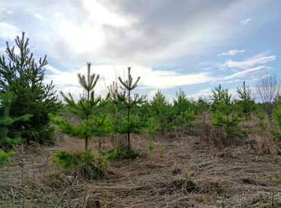
[[[76,174],[86,173],[87,177],[104,177],[106,171],[108,171],[109,162],[105,157],[97,153],[96,155],[92,153],[92,149],[88,149],[88,153],[68,153],[65,150],[57,152],[55,159],[52,161],[59,164],[64,169],[74,169]],[[86,164],[86,171],[82,171],[83,164]]]

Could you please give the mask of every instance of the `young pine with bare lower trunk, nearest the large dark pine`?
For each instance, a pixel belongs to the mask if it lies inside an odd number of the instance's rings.
[[[95,73],[90,74],[90,63],[88,63],[87,77],[78,73],[80,85],[86,90],[86,97],[81,96],[76,103],[72,94],[65,96],[61,92],[67,107],[74,114],[81,119],[81,123],[74,125],[67,121],[67,119],[59,119],[57,116],[51,116],[51,122],[58,125],[58,131],[70,137],[78,139],[85,139],[85,171],[88,165],[88,139],[90,137],[104,137],[111,131],[111,123],[106,119],[106,114],[102,115],[102,108],[104,102],[100,96],[94,98],[94,87],[97,84],[99,75]]]

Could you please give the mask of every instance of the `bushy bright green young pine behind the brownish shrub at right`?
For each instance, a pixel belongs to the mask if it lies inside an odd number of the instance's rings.
[[[236,138],[248,136],[247,130],[239,130],[237,128],[241,121],[241,110],[234,102],[231,101],[231,95],[227,89],[221,86],[215,87],[213,101],[214,121],[212,124],[216,127],[217,136],[223,144],[232,144]]]

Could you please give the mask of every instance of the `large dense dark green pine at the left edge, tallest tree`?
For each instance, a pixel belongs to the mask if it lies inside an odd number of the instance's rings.
[[[7,42],[6,55],[0,57],[0,90],[10,90],[16,99],[10,105],[10,117],[16,118],[25,114],[32,114],[29,121],[17,119],[9,125],[8,137],[22,137],[28,141],[38,141],[41,144],[54,141],[54,128],[49,125],[50,112],[56,113],[61,104],[58,102],[54,85],[43,83],[44,67],[47,65],[46,56],[35,61],[33,53],[29,51],[29,39],[15,39],[19,54],[15,47]]]

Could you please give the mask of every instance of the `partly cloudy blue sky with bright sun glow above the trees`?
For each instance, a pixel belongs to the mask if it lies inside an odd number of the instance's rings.
[[[280,0],[1,0],[0,55],[22,32],[36,60],[47,55],[45,83],[79,95],[77,73],[100,74],[105,94],[131,67],[133,93],[169,101],[209,97],[264,75],[281,77]]]

